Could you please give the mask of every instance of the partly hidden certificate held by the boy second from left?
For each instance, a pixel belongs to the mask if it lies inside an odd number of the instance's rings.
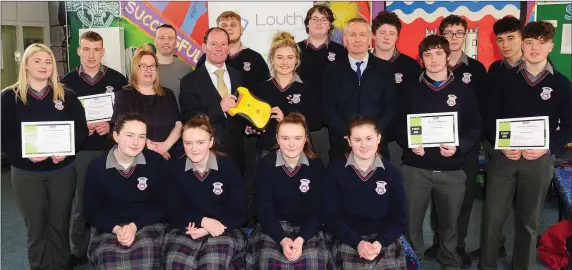
[[[105,122],[113,116],[114,93],[105,93],[78,97],[85,109],[85,119],[88,123]]]

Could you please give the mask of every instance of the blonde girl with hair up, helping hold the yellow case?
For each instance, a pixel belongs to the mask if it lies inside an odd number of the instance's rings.
[[[300,65],[300,48],[290,33],[278,32],[274,35],[268,62],[272,78],[254,89],[254,95],[272,106],[272,118],[276,121],[271,119],[263,133],[247,128],[249,133],[260,134],[257,146],[262,151],[262,156],[276,146],[276,124],[284,115],[291,112],[303,114],[309,131],[318,130],[322,125],[316,91],[312,91],[309,84],[303,83],[295,72]]]

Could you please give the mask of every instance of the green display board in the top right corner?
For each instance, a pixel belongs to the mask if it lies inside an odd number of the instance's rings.
[[[556,70],[572,80],[572,4],[538,4],[536,20],[549,21],[556,26],[554,49],[549,57]]]

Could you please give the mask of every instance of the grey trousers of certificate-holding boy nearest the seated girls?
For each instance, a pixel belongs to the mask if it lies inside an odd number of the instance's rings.
[[[467,177],[462,170],[435,172],[403,165],[403,184],[407,207],[406,237],[417,256],[422,259],[423,220],[433,198],[437,210],[439,244],[437,261],[444,269],[457,269],[461,258],[457,254],[457,219],[465,195]]]

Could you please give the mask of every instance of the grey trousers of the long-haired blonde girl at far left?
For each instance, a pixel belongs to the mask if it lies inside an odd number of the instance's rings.
[[[12,166],[10,180],[27,228],[30,268],[67,269],[75,165],[49,172],[24,171]]]

